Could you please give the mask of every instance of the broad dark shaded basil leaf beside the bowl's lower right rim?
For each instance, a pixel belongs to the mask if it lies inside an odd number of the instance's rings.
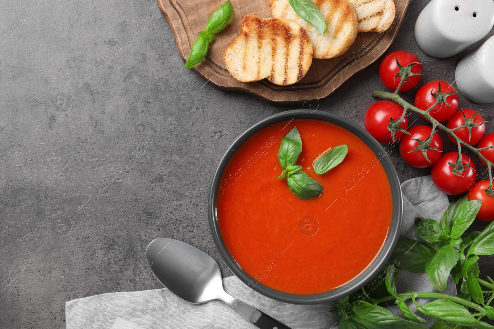
[[[409,272],[424,273],[425,264],[436,254],[430,246],[417,240],[401,238],[391,256],[393,263]]]

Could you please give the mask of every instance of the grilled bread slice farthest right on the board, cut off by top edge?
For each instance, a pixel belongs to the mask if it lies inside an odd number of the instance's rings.
[[[395,18],[393,0],[350,0],[359,15],[359,32],[384,32]]]

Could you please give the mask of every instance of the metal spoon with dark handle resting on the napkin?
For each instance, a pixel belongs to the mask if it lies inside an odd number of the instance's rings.
[[[193,303],[219,299],[261,329],[289,329],[269,315],[223,290],[221,272],[214,259],[188,243],[168,238],[152,241],[146,259],[154,276],[169,291]]]

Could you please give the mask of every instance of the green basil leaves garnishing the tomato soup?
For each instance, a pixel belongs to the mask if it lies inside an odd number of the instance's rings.
[[[276,178],[287,178],[290,191],[300,199],[309,200],[320,196],[324,188],[316,180],[301,171],[302,166],[295,165],[301,152],[302,139],[297,127],[293,127],[287,136],[281,140],[278,162],[283,168],[283,173]],[[348,147],[346,145],[331,148],[314,163],[316,174],[327,173],[330,169],[336,167],[343,161],[347,153]]]

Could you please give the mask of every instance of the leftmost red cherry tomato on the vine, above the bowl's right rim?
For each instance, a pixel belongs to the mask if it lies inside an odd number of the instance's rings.
[[[372,135],[379,143],[391,143],[391,132],[388,130],[389,118],[398,120],[403,114],[403,108],[395,102],[391,101],[379,101],[372,104],[367,109],[364,116],[364,126],[369,134]],[[408,128],[408,117],[403,119],[400,124],[403,129]],[[405,133],[402,131],[396,131],[395,140],[399,140]]]

